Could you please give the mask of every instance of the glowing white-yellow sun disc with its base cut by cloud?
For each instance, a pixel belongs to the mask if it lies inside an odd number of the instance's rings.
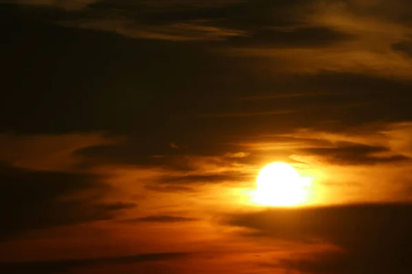
[[[308,201],[311,181],[283,162],[264,166],[258,175],[253,202],[264,206],[297,206]]]

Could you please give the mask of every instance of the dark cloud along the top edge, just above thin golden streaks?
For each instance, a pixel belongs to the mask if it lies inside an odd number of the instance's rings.
[[[310,1],[308,1],[310,2]],[[299,3],[301,4],[301,2]],[[141,26],[164,26],[181,23],[214,26],[229,29],[255,29],[262,25],[290,25],[300,22],[291,8],[296,1],[276,3],[271,1],[98,1],[89,5],[87,13],[113,14],[127,18]],[[275,15],[275,16],[274,16]],[[181,29],[181,33],[184,32]]]

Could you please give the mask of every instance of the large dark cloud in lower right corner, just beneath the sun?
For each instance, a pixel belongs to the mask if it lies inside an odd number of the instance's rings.
[[[343,249],[296,254],[277,267],[313,274],[410,273],[411,213],[410,204],[273,209],[234,215],[229,223],[250,229],[247,236],[321,241]]]

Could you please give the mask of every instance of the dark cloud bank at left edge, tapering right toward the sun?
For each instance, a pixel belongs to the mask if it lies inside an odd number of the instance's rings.
[[[0,166],[0,239],[30,229],[112,219],[130,203],[102,203],[102,177]],[[82,196],[77,196],[82,195]]]

